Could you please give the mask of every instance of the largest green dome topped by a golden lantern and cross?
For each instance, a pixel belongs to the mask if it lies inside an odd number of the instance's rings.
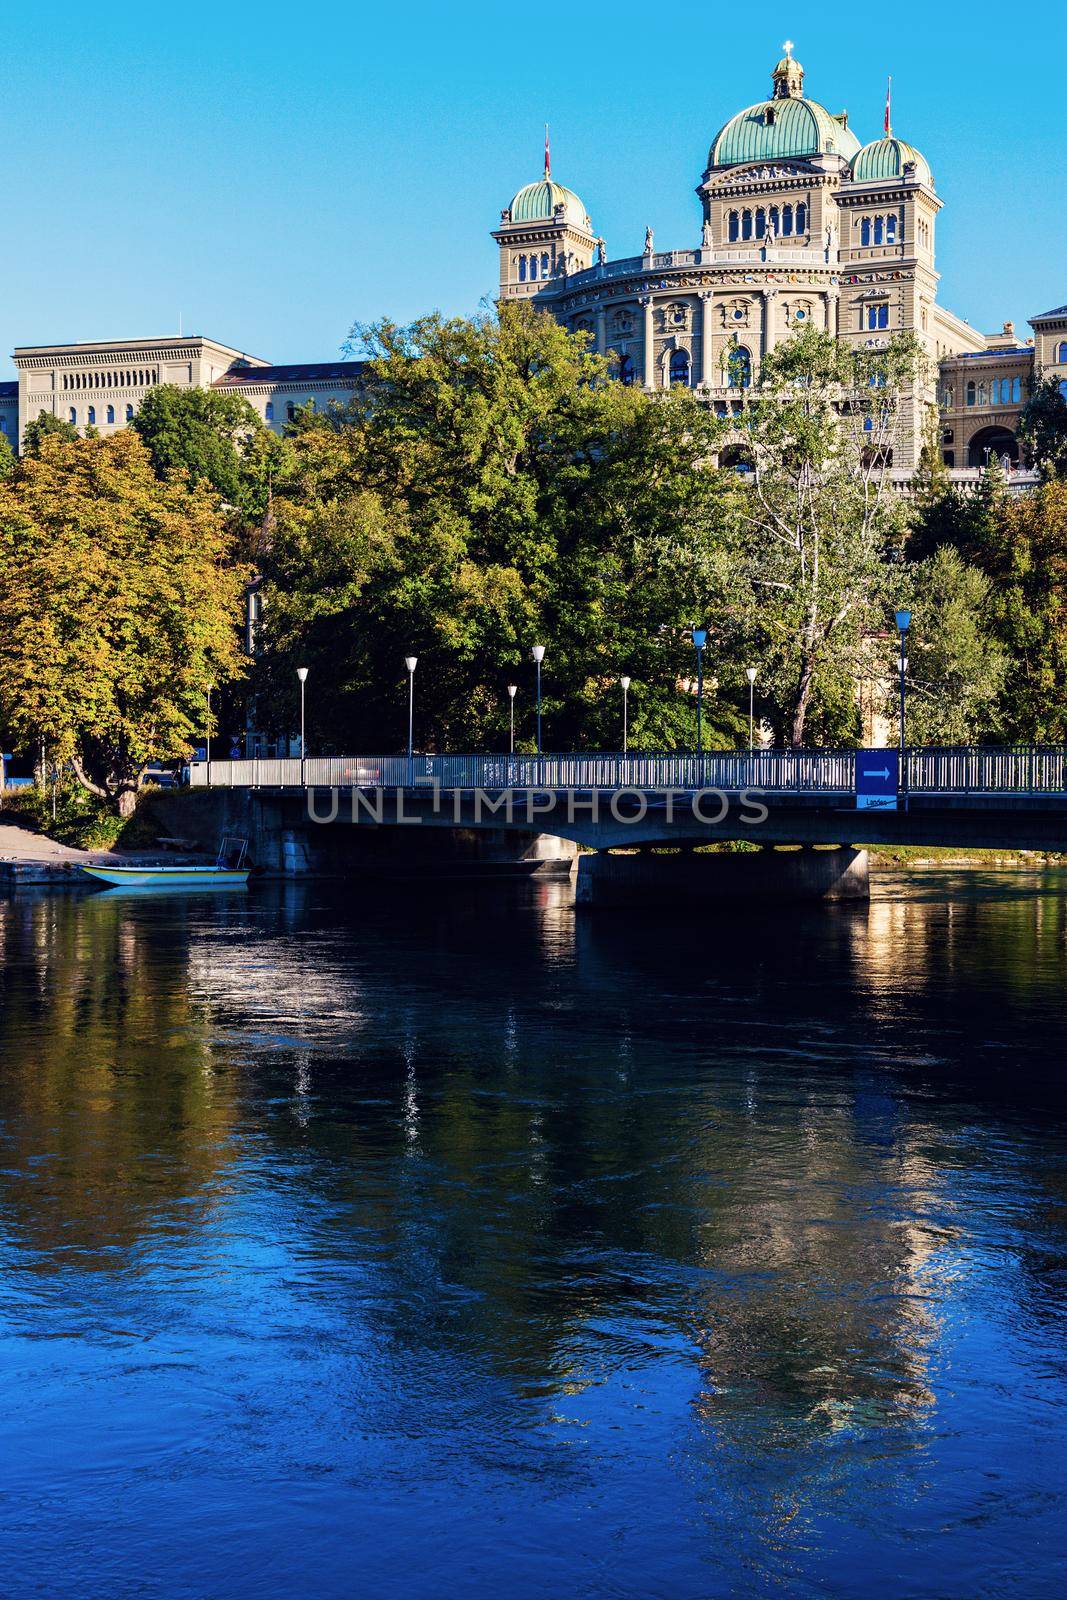
[[[841,112],[803,94],[805,69],[787,54],[773,72],[774,98],[739,110],[718,130],[707,152],[709,166],[773,162],[806,155],[840,155],[851,162],[861,144]]]

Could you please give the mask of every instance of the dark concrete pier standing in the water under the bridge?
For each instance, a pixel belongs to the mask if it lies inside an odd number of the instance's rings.
[[[579,906],[707,906],[715,901],[776,906],[781,901],[865,901],[867,851],[760,850],[665,854],[598,851],[579,856]]]

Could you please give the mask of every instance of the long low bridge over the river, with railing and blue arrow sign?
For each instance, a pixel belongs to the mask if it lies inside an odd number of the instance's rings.
[[[870,778],[873,789],[870,794]],[[881,778],[881,782],[878,779]],[[261,859],[282,838],[288,861],[312,869],[336,862],[338,829],[450,829],[483,835],[544,866],[569,842],[598,851],[581,858],[579,898],[592,885],[629,875],[691,886],[693,872],[747,872],[747,858],[696,858],[701,845],[744,840],[757,846],[808,846],[803,869],[819,893],[862,891],[853,882],[869,845],[985,850],[1067,850],[1067,747],[950,747],[896,750],[729,750],[693,754],[560,755],[354,755],[194,762],[190,786],[242,797],[259,834]],[[237,821],[234,813],[227,813]],[[814,846],[840,858],[813,861]],[[395,840],[394,861],[414,848]],[[659,851],[677,848],[688,866]],[[637,866],[632,851],[656,850]],[[614,851],[614,856],[608,856]],[[625,851],[621,858],[617,853]],[[280,859],[280,858],[278,858]],[[718,866],[712,866],[718,861]],[[760,869],[782,882],[782,853]],[[827,877],[829,875],[829,877]],[[589,893],[582,891],[582,878]],[[833,882],[830,882],[833,880]],[[768,880],[769,882],[769,880]]]

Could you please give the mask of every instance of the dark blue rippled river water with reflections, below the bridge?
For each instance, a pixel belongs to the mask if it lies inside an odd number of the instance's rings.
[[[0,902],[0,1592],[1061,1595],[1067,878]]]

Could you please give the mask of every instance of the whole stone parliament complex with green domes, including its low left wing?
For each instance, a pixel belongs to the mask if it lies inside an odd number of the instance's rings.
[[[696,186],[696,242],[611,259],[573,189],[544,176],[501,213],[499,301],[531,301],[609,354],[622,382],[693,389],[720,414],[739,411],[760,362],[795,328],[824,328],[878,349],[902,330],[929,357],[929,382],[904,408],[893,466],[910,475],[923,419],[941,410],[945,464],[1019,462],[1016,430],[1035,371],[1067,392],[1067,306],[1033,317],[1033,338],[982,334],[937,299],[937,216],[926,157],[897,138],[886,102],[864,142],[846,112],[805,93],[792,46],[771,94],[726,118]],[[155,384],[237,390],[283,430],[298,406],[344,402],[358,362],[272,366],[206,338],[22,346],[18,382],[0,384],[0,430],[16,445],[40,411],[107,434],[136,416]]]

